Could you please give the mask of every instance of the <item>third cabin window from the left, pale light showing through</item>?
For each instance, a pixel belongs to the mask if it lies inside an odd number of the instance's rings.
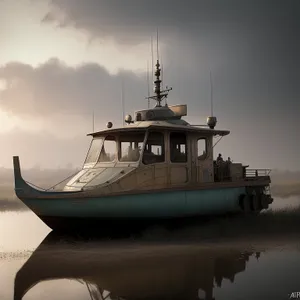
[[[144,138],[144,133],[121,135],[119,145],[119,161],[138,161],[143,148]]]

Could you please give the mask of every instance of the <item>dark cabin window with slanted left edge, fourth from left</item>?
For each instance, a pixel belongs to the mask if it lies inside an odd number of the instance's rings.
[[[145,165],[165,161],[165,140],[161,132],[150,132],[144,149],[143,163]]]

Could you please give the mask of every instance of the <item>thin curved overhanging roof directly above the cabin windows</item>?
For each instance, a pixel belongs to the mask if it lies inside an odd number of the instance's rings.
[[[92,132],[87,134],[88,136],[97,137],[103,134],[108,133],[121,133],[121,132],[132,132],[132,131],[144,131],[146,129],[174,129],[174,130],[182,130],[182,131],[189,131],[189,132],[198,132],[204,133],[207,135],[219,135],[225,136],[230,133],[229,130],[217,130],[217,129],[210,129],[208,127],[199,127],[193,125],[178,125],[178,124],[171,124],[167,121],[141,121],[141,122],[134,122],[133,124],[129,124],[124,127],[116,127],[116,128],[107,128],[105,130]]]

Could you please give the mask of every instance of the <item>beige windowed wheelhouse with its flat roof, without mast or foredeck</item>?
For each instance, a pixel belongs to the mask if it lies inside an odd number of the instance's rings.
[[[90,134],[84,169],[151,166],[166,184],[212,182],[213,136],[228,133],[170,124],[104,130]]]

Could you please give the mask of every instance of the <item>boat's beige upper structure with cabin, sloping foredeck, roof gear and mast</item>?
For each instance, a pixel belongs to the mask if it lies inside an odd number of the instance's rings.
[[[207,125],[193,126],[182,119],[186,105],[161,104],[171,89],[160,90],[159,66],[157,62],[156,96],[150,97],[156,106],[135,112],[134,120],[127,115],[124,127],[113,128],[109,122],[107,129],[90,133],[83,169],[65,190],[112,182],[156,189],[242,179],[242,164],[217,164],[213,158],[213,138],[229,134],[214,129],[215,117],[209,117]],[[128,173],[135,176],[125,180]]]

